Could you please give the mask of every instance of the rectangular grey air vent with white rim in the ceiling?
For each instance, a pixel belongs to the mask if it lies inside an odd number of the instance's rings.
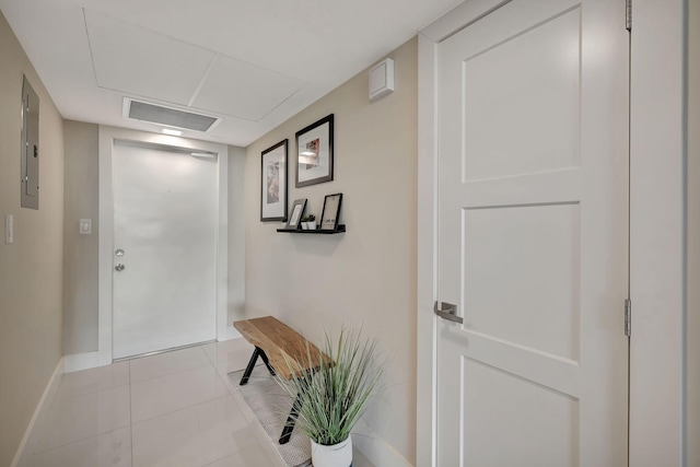
[[[211,131],[221,118],[124,98],[124,116],[139,121],[195,131]]]

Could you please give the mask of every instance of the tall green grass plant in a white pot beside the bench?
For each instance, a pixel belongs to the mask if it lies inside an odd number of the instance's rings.
[[[322,362],[315,371],[303,371],[295,380],[277,377],[291,398],[299,395],[295,430],[311,439],[314,467],[351,465],[350,432],[383,376],[376,346],[376,340],[362,339],[360,332],[343,329],[337,341],[326,334],[322,351],[327,358],[313,358],[311,348],[306,349],[310,362]]]

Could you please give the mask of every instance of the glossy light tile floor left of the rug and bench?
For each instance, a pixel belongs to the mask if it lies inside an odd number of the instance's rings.
[[[282,467],[226,373],[243,339],[63,375],[21,467]]]

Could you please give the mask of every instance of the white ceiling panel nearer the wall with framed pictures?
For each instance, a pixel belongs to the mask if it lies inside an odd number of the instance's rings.
[[[219,55],[192,106],[259,121],[304,84],[296,78]]]

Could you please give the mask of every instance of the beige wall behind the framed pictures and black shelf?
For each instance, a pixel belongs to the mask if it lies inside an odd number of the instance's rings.
[[[317,338],[322,328],[364,327],[389,355],[387,390],[365,420],[406,460],[416,451],[418,40],[393,54],[396,91],[370,103],[368,71],[247,148],[246,306]],[[294,188],[294,133],[335,114],[335,180]],[[289,206],[342,192],[338,235],[277,233],[260,222],[260,152],[289,138]],[[362,437],[360,442],[368,442]],[[368,443],[371,443],[368,442]],[[369,447],[372,448],[371,446]],[[366,450],[365,450],[366,451]],[[372,457],[372,453],[366,453]]]

